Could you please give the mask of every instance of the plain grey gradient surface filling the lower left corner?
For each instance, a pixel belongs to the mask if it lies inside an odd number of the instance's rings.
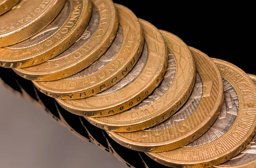
[[[126,168],[0,83],[0,168]]]

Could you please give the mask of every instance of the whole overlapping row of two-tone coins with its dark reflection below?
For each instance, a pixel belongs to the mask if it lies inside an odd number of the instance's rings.
[[[129,167],[255,164],[256,76],[112,0],[0,0],[0,22],[2,80]]]

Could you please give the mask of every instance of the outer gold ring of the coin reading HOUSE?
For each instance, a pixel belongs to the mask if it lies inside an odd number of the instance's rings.
[[[118,29],[118,14],[112,0],[91,0],[99,11],[99,25],[84,46],[57,60],[46,61],[28,68],[16,68],[14,71],[28,80],[51,81],[69,77],[86,68],[97,60],[111,45]],[[76,58],[79,55],[79,58]],[[66,61],[69,61],[66,63]],[[58,63],[58,67],[47,70],[47,64]],[[42,67],[42,68],[41,68]],[[32,69],[33,68],[33,69]],[[41,71],[38,69],[41,69]],[[47,69],[46,69],[47,68]]]

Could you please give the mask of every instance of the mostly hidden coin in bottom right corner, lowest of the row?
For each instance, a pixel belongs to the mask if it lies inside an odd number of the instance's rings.
[[[256,75],[248,74],[256,85]],[[256,168],[256,135],[253,140],[241,151],[236,157],[233,157],[221,165],[213,166],[214,168]]]

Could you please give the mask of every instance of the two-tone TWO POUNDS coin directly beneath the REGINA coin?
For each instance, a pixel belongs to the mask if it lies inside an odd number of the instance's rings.
[[[33,3],[30,1],[33,1]],[[42,1],[42,4],[48,2],[49,5],[50,2],[57,0],[24,0],[22,2],[25,6],[29,2],[34,4],[34,1]],[[58,0],[57,3],[61,1]],[[46,4],[45,6],[48,9]],[[42,31],[23,42],[0,48],[0,66],[24,68],[38,65],[65,51],[80,37],[86,28],[90,20],[91,6],[90,0],[67,0],[60,14]],[[39,10],[39,8],[36,9]],[[25,75],[23,77],[26,78]]]

